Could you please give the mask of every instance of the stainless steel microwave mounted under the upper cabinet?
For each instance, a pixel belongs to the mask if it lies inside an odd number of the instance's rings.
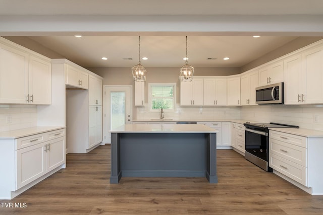
[[[284,82],[257,87],[256,104],[284,104]]]

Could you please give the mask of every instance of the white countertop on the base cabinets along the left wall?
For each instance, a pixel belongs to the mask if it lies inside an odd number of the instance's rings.
[[[0,132],[0,139],[16,139],[24,136],[30,136],[62,128],[65,128],[65,126],[38,126],[18,130],[4,131]]]

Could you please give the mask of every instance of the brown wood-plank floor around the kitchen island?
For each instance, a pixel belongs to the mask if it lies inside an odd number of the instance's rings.
[[[232,150],[217,153],[218,184],[206,178],[122,178],[110,184],[109,145],[68,154],[66,169],[1,200],[26,207],[0,204],[0,214],[323,214],[323,196],[307,194]]]

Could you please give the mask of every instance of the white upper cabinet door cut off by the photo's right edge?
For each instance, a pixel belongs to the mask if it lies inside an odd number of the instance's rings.
[[[302,102],[323,103],[323,46],[303,52],[302,66]]]

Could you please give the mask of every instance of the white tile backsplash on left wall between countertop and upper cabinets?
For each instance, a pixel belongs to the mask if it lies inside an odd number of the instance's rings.
[[[0,105],[0,132],[37,126],[36,105]]]

